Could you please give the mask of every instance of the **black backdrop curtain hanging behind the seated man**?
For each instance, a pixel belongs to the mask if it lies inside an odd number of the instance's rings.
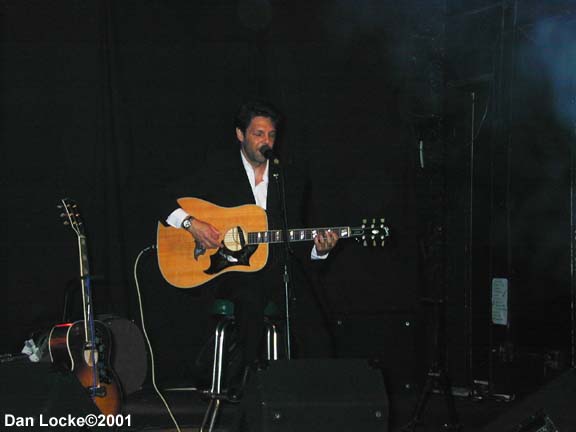
[[[411,313],[413,149],[398,113],[401,74],[390,67],[393,32],[385,22],[335,32],[328,24],[345,11],[328,3],[307,14],[264,3],[0,3],[0,352],[59,322],[67,292],[72,314],[81,310],[75,237],[56,209],[62,197],[86,221],[96,312],[138,318],[132,266],[155,242],[156,198],[210,149],[236,145],[233,115],[251,95],[285,113],[281,153],[306,163],[313,179],[310,224],[385,216],[394,225],[388,249],[347,243],[334,254],[325,280],[332,315]],[[327,25],[318,25],[321,14]],[[165,286],[153,256],[143,265],[159,314],[150,319],[167,326],[179,317],[178,334],[196,338],[186,332],[205,318],[194,312],[197,295]]]

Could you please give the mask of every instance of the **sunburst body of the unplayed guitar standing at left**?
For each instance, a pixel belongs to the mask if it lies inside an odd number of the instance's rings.
[[[76,375],[102,414],[118,414],[122,392],[110,367],[112,337],[108,327],[100,321],[94,321],[94,335],[96,361],[93,363],[92,350],[86,349],[84,321],[54,326],[48,344],[50,359],[57,367]],[[92,389],[94,382],[98,386]]]

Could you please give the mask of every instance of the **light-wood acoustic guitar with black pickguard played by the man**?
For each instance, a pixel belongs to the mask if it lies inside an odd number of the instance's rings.
[[[268,260],[268,244],[283,242],[284,230],[268,230],[266,212],[257,205],[220,207],[199,198],[180,198],[178,204],[188,214],[212,224],[224,238],[218,249],[204,249],[186,230],[158,223],[160,271],[177,288],[198,287],[231,271],[261,270]],[[338,233],[341,239],[356,238],[365,246],[384,246],[389,236],[389,228],[380,218],[364,220],[359,227],[289,229],[288,241],[312,241],[326,231]]]

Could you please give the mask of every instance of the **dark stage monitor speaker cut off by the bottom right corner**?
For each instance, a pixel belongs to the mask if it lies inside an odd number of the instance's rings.
[[[576,370],[571,369],[516,402],[483,432],[576,431]]]

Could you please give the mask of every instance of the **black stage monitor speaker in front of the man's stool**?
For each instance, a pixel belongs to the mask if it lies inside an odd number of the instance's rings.
[[[388,431],[382,374],[364,360],[278,360],[249,381],[241,430]]]

